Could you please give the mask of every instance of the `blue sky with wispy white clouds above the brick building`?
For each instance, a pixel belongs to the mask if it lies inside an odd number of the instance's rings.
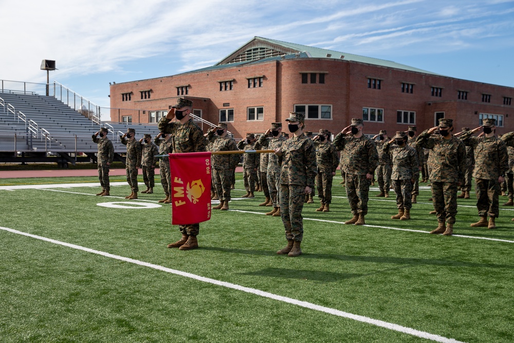
[[[514,87],[514,0],[0,0],[0,79],[56,80],[108,107],[109,82],[210,66],[260,36]]]

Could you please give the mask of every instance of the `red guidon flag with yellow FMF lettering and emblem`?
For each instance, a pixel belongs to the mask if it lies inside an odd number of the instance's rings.
[[[186,225],[211,219],[211,153],[169,154],[172,224]]]

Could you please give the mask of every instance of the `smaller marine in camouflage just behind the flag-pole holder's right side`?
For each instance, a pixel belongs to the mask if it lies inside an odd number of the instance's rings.
[[[316,147],[316,164],[318,173],[316,174],[316,187],[320,198],[320,207],[316,212],[329,212],[332,203],[332,179],[336,175],[339,158],[334,145],[329,141],[330,132],[320,129],[320,133],[314,141]]]

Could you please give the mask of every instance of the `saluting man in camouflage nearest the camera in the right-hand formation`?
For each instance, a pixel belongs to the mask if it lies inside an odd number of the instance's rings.
[[[439,129],[439,136],[431,136]],[[453,119],[439,119],[439,126],[423,131],[416,139],[417,146],[431,149],[434,163],[429,165],[432,183],[432,199],[437,214],[438,226],[430,233],[453,234],[457,214],[457,188],[466,167],[466,147],[450,132]],[[446,222],[446,226],[445,226]]]

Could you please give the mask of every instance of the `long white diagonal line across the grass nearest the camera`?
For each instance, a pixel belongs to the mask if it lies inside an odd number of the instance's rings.
[[[390,322],[387,322],[387,321],[382,321],[382,320],[373,319],[373,318],[369,318],[369,317],[359,316],[359,315],[356,315],[356,314],[352,314],[352,313],[348,313],[348,312],[343,312],[343,311],[339,311],[339,310],[332,309],[332,308],[327,308],[325,306],[316,305],[316,304],[311,303],[311,302],[301,301],[301,300],[297,300],[297,299],[283,297],[283,296],[280,296],[280,295],[277,295],[277,294],[273,294],[273,293],[269,293],[269,292],[264,292],[264,291],[261,291],[261,290],[256,290],[255,288],[245,287],[245,286],[241,286],[241,285],[230,283],[230,282],[219,281],[219,280],[210,279],[210,278],[206,278],[206,277],[195,275],[195,274],[191,274],[191,273],[181,272],[180,270],[163,267],[163,266],[160,266],[160,265],[157,265],[157,264],[143,262],[143,261],[139,261],[139,260],[134,260],[134,259],[123,257],[123,256],[113,255],[113,254],[109,254],[108,252],[94,250],[94,249],[86,248],[86,247],[83,247],[83,246],[80,246],[80,245],[75,245],[75,244],[71,244],[71,243],[61,242],[61,241],[53,240],[53,239],[42,237],[42,236],[36,236],[35,234],[30,234],[30,233],[26,233],[26,232],[22,232],[22,231],[18,231],[18,230],[9,229],[7,227],[0,226],[0,229],[8,231],[8,232],[11,232],[11,233],[21,234],[22,236],[39,239],[39,240],[42,240],[42,241],[45,241],[45,242],[49,242],[49,243],[58,244],[58,245],[66,246],[66,247],[69,247],[69,248],[77,249],[77,250],[82,250],[82,251],[90,252],[91,254],[97,254],[97,255],[108,257],[108,258],[112,258],[112,259],[115,259],[115,260],[120,260],[120,261],[124,261],[124,262],[128,262],[128,263],[134,263],[134,264],[137,264],[137,265],[140,265],[140,266],[161,270],[162,272],[183,276],[183,277],[194,279],[194,280],[197,280],[197,281],[207,282],[207,283],[215,284],[217,286],[231,288],[232,290],[242,291],[242,292],[258,295],[258,296],[261,296],[261,297],[264,297],[264,298],[269,298],[269,299],[273,299],[273,300],[283,301],[283,302],[286,302],[286,303],[289,303],[289,304],[302,306],[303,308],[306,308],[306,309],[311,309],[311,310],[320,311],[320,312],[332,314],[332,315],[343,317],[343,318],[357,320],[357,321],[360,321],[360,322],[364,322],[364,323],[375,325],[377,327],[386,328],[386,329],[389,329],[389,330],[406,333],[406,334],[413,335],[413,336],[416,336],[416,337],[430,339],[430,340],[433,340],[433,341],[436,341],[436,342],[442,342],[442,343],[464,343],[464,342],[455,340],[453,338],[447,338],[447,337],[443,337],[443,336],[439,336],[439,335],[434,335],[434,334],[431,334],[431,333],[428,333],[428,332],[419,331],[419,330],[408,328],[408,327],[403,327],[403,326],[400,326],[398,324],[390,323]]]

